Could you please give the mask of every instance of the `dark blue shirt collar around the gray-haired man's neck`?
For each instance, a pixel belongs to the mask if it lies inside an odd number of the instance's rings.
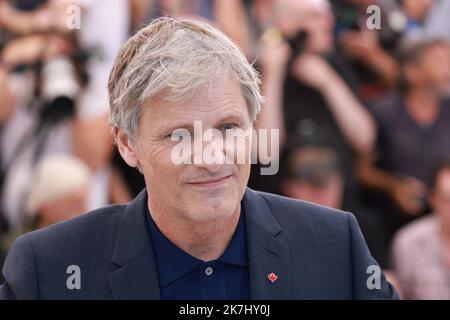
[[[181,250],[167,239],[153,221],[148,207],[145,207],[146,220],[156,256],[156,266],[158,269],[160,285],[166,287],[205,262]],[[241,214],[236,231],[233,234],[228,247],[217,260],[210,262],[221,262],[240,267],[248,266],[243,206],[241,206]]]

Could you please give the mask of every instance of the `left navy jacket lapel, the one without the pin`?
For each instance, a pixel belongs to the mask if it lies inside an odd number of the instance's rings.
[[[112,262],[119,266],[108,276],[114,299],[160,299],[160,288],[145,221],[147,190],[125,208],[119,222]]]

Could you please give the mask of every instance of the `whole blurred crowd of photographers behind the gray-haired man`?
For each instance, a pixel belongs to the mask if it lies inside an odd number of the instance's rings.
[[[403,298],[450,299],[448,0],[0,0],[0,263],[21,233],[145,187],[106,84],[162,15],[210,21],[260,71],[281,165],[250,187],[352,212]]]

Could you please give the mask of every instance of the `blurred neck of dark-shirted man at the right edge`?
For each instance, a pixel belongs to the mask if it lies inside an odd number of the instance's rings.
[[[439,115],[440,96],[433,90],[413,89],[406,95],[406,108],[420,125],[431,125]]]

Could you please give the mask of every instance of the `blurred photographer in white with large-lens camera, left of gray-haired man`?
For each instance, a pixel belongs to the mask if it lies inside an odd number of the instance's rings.
[[[29,179],[44,155],[78,156],[94,173],[88,207],[108,202],[112,144],[106,83],[117,48],[129,30],[128,4],[116,0],[104,8],[102,1],[77,1],[84,15],[78,31],[65,26],[67,2],[65,7],[59,2],[59,11],[55,1],[35,1],[38,4],[31,9],[19,5],[30,1],[5,3],[2,7],[8,5],[11,15],[0,13],[0,23],[10,28],[1,61],[15,71],[17,103],[1,135],[5,174],[1,196],[11,227],[20,229]],[[41,13],[45,16],[43,12],[59,12],[59,19],[47,20],[51,15],[34,19]],[[26,17],[30,25],[31,21],[47,24],[18,29],[12,21],[15,14]],[[64,27],[55,21],[64,21]]]

